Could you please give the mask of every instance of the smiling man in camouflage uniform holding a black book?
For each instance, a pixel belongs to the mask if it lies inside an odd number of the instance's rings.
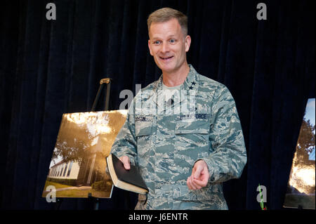
[[[171,8],[148,18],[148,46],[162,76],[133,99],[112,146],[125,169],[139,167],[150,190],[136,209],[228,209],[222,183],[239,178],[246,164],[230,91],[187,64],[186,24]]]

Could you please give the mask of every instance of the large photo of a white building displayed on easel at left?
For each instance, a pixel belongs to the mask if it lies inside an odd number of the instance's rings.
[[[42,197],[55,187],[56,197],[112,195],[106,157],[126,120],[127,110],[63,114]]]

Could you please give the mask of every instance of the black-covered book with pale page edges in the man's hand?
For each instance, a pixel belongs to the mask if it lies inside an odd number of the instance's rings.
[[[115,187],[145,195],[149,190],[136,166],[126,170],[124,164],[114,154],[107,157],[107,169]]]

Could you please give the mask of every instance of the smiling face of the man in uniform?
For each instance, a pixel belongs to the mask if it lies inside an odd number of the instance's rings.
[[[150,25],[148,47],[154,62],[162,72],[176,72],[186,63],[191,38],[185,37],[177,19],[153,22]]]

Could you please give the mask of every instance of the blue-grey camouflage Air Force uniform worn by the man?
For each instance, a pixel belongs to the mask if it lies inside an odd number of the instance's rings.
[[[162,97],[162,77],[143,88],[129,107],[112,153],[127,155],[150,189],[136,209],[228,209],[222,183],[239,178],[246,148],[235,101],[223,84],[190,72],[173,103]],[[170,102],[170,101],[169,101]],[[203,159],[209,183],[189,190],[192,166]]]

